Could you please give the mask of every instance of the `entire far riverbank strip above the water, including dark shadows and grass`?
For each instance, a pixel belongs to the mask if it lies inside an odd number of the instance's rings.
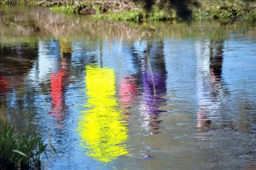
[[[256,21],[255,1],[16,1],[107,21]]]

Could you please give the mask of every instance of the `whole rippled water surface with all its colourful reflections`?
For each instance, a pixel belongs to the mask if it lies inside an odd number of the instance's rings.
[[[1,120],[45,169],[253,169],[256,27],[1,10]]]

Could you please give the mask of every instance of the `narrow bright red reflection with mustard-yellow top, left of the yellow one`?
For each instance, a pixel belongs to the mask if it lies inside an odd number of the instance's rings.
[[[53,109],[50,114],[56,121],[63,121],[65,116],[64,91],[69,83],[69,65],[71,59],[71,43],[60,39],[60,69],[51,75],[51,97]]]

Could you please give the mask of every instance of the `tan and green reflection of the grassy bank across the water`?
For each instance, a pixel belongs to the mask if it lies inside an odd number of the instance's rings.
[[[28,10],[29,9],[29,10]],[[17,15],[19,11],[19,15]],[[86,16],[63,15],[62,12],[51,12],[47,9],[26,7],[25,5],[3,5],[1,13],[1,43],[28,42],[29,44],[49,37],[64,37],[95,41],[125,39],[134,42],[142,39],[175,37],[205,37],[211,40],[222,40],[234,33],[246,30],[246,36],[255,37],[255,23],[233,22],[222,24],[218,22],[105,22],[88,20]],[[41,18],[44,18],[43,20]],[[86,19],[85,19],[86,18]],[[200,25],[200,27],[198,27]],[[210,29],[208,29],[210,28]],[[159,31],[161,30],[161,31]],[[203,31],[204,30],[204,31]],[[229,32],[227,30],[233,30]],[[78,33],[78,34],[77,34]],[[116,34],[122,33],[122,34]],[[30,62],[29,62],[30,64]]]

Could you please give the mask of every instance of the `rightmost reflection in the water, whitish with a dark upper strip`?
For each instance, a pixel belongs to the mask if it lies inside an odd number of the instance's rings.
[[[197,59],[198,128],[211,124],[211,117],[218,114],[224,96],[228,94],[224,89],[221,75],[223,41],[205,42],[204,45],[202,43],[197,44],[199,54]]]

